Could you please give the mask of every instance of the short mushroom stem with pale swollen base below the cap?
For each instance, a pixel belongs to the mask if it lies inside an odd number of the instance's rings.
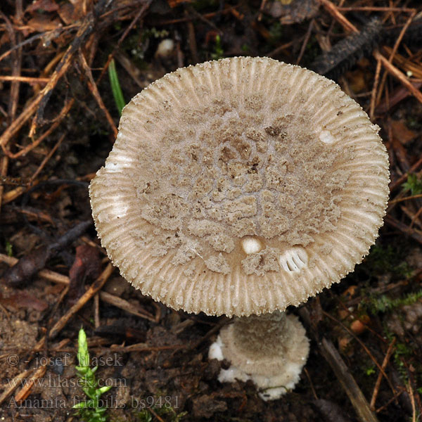
[[[252,380],[264,400],[278,399],[298,383],[309,340],[297,316],[274,312],[235,318],[210,347],[210,359],[227,359],[219,381]]]

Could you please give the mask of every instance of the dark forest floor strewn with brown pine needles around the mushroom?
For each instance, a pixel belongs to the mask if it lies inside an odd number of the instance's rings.
[[[85,399],[81,326],[98,385],[112,386],[109,421],[418,421],[421,46],[416,0],[2,0],[0,421],[100,420],[72,409]],[[230,56],[331,77],[381,127],[390,157],[376,245],[289,309],[311,351],[295,390],[273,402],[250,382],[217,381],[207,350],[226,318],[175,312],[122,279],[87,191],[117,133],[116,79],[129,101],[167,72]]]

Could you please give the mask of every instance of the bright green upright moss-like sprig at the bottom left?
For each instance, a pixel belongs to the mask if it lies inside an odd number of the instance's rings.
[[[79,365],[76,366],[76,371],[82,390],[84,390],[88,399],[75,404],[73,409],[77,409],[77,416],[83,422],[106,422],[108,421],[105,414],[107,409],[101,406],[100,397],[103,393],[108,392],[111,386],[105,385],[98,388],[98,381],[95,376],[98,366],[94,366],[92,369],[89,366],[87,334],[83,328],[79,330],[77,342],[77,361]]]

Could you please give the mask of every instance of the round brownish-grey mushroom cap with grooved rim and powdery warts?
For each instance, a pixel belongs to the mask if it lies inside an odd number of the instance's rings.
[[[174,309],[248,316],[340,281],[378,236],[388,155],[337,84],[270,58],[169,73],[89,188],[108,256]]]

